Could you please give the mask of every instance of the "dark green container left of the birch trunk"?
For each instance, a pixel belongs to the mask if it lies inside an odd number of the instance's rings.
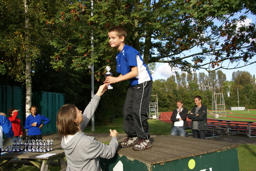
[[[24,125],[23,87],[0,85],[0,111],[9,117],[8,109],[11,107],[19,110],[17,117],[20,119],[21,125]]]

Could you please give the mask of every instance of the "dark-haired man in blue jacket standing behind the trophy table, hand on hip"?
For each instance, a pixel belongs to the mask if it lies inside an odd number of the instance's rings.
[[[24,128],[28,129],[27,139],[30,139],[30,140],[42,139],[41,128],[42,126],[50,122],[50,119],[48,119],[42,114],[36,113],[37,111],[38,109],[36,106],[31,106],[30,107],[31,115],[29,115],[25,121]],[[42,123],[42,121],[45,121],[45,122]]]

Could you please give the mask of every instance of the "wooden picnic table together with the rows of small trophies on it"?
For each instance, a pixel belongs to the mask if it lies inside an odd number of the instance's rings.
[[[67,167],[66,161],[64,160],[64,150],[53,150],[52,147],[54,143],[52,139],[33,139],[24,141],[17,139],[12,143],[3,144],[0,167],[14,158],[22,159],[22,161],[29,161],[38,167],[40,171],[47,171],[49,163],[56,160],[58,160],[61,169]]]

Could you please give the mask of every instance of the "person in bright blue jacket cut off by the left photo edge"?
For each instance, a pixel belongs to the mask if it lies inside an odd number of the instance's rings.
[[[12,138],[14,136],[14,132],[12,131],[12,123],[10,120],[3,115],[0,114],[0,151],[2,151],[3,147],[3,132],[6,137]]]

